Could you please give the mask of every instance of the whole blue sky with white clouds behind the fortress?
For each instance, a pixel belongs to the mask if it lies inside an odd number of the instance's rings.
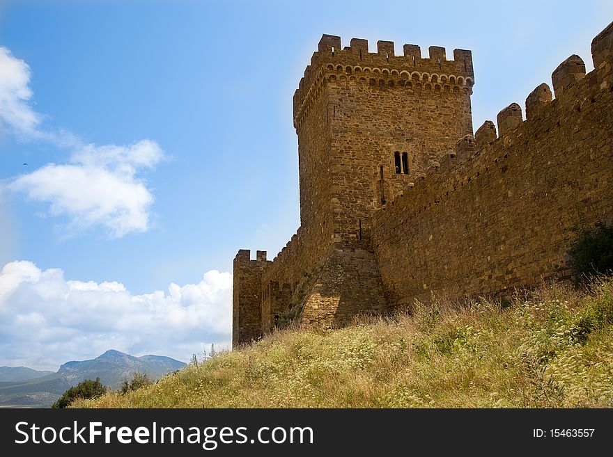
[[[299,225],[292,96],[322,33],[471,49],[476,129],[571,54],[591,70],[612,19],[607,1],[1,2],[0,365],[228,344],[235,252],[272,258]]]

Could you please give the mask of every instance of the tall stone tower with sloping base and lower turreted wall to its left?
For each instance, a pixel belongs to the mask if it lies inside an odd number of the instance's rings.
[[[341,48],[341,38],[323,35],[293,98],[300,228],[272,262],[262,251],[235,258],[234,345],[288,310],[325,325],[385,312],[373,212],[472,135],[472,55],[456,49],[453,58],[442,47],[422,58],[415,45],[396,56],[389,41],[370,53],[356,38]]]

